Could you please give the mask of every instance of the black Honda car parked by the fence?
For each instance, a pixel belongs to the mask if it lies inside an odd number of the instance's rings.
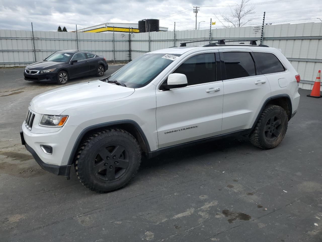
[[[65,84],[69,79],[95,74],[103,76],[108,69],[104,56],[81,50],[62,50],[42,61],[26,66],[24,79]]]

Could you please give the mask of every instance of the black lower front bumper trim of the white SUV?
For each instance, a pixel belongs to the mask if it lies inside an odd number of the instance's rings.
[[[67,179],[69,179],[69,172],[71,170],[71,165],[56,166],[56,165],[51,165],[43,162],[42,159],[34,151],[34,149],[25,142],[24,132],[22,131],[21,127],[20,127],[20,137],[21,137],[21,144],[23,144],[26,147],[26,149],[32,154],[33,158],[37,161],[39,166],[41,166],[45,171],[48,171],[57,176],[67,177]]]

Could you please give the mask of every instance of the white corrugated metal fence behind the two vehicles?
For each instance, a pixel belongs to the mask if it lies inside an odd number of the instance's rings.
[[[0,30],[0,66],[26,66],[62,49],[90,51],[108,61],[128,61],[184,41],[209,38],[209,30],[131,34]],[[211,39],[257,39],[259,43],[260,33],[255,33],[253,26],[220,28],[211,30]],[[300,74],[300,86],[311,89],[322,69],[322,23],[265,25],[263,44],[281,49]]]

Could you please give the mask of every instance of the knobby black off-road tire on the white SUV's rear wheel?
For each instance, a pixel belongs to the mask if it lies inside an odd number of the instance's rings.
[[[280,119],[281,121],[281,127],[278,126],[279,128],[279,134],[277,136],[271,135],[273,137],[269,138],[267,136],[267,132],[274,133],[276,132],[276,129],[274,129],[274,125],[269,124],[269,121],[272,120],[272,118]],[[276,122],[276,121],[275,121]],[[271,122],[274,124],[274,122]],[[268,126],[271,127],[268,127]],[[255,128],[251,132],[249,139],[251,143],[254,146],[257,146],[261,149],[271,149],[274,148],[275,146],[279,145],[279,143],[283,140],[286,131],[287,131],[287,125],[288,125],[288,117],[285,112],[285,110],[277,105],[268,105],[264,108],[262,113],[260,114],[260,117],[256,123]],[[267,128],[270,128],[269,130]],[[275,130],[275,131],[272,131]],[[274,140],[269,140],[269,139],[274,139]]]

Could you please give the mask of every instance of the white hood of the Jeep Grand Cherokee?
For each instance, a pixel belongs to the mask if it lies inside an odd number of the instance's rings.
[[[124,98],[134,91],[134,88],[97,80],[57,88],[35,96],[30,108],[40,114],[60,115],[64,110],[72,107]]]

